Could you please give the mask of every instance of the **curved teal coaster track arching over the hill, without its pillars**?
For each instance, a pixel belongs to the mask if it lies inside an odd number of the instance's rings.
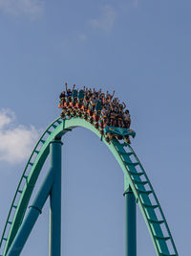
[[[120,144],[117,139],[108,144],[94,126],[80,118],[71,118],[65,121],[57,118],[45,130],[32,151],[11,203],[11,209],[0,242],[2,255],[5,256],[7,254],[24,219],[36,180],[49,154],[50,142],[60,139],[66,132],[76,127],[91,129],[114,154],[124,173],[125,193],[132,189],[137,198],[138,206],[147,224],[157,255],[178,256],[178,251],[159,205],[159,200],[135,151],[128,144]]]

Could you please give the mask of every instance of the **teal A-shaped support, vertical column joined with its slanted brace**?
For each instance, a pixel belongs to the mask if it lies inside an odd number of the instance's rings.
[[[27,242],[32,228],[42,213],[42,208],[50,196],[51,198],[51,246],[50,256],[60,256],[61,237],[61,142],[51,143],[51,168],[39,189],[27,217],[21,224],[8,251],[8,256],[19,256]]]

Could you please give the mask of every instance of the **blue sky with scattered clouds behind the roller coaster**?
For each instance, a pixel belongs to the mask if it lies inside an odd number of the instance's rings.
[[[187,0],[0,0],[0,233],[27,157],[59,115],[68,81],[116,90],[128,105],[133,148],[180,255],[189,254],[190,10]],[[62,255],[124,255],[117,162],[83,128],[63,140]],[[48,222],[49,203],[23,255],[48,254]],[[155,255],[139,211],[138,255]]]

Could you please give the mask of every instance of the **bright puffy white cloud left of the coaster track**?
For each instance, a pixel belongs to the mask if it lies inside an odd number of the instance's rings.
[[[0,110],[0,161],[12,164],[26,160],[37,141],[39,132],[33,126],[15,127],[15,114],[10,109]]]

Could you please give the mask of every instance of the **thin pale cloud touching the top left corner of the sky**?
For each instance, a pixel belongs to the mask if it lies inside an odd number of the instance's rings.
[[[43,12],[42,0],[0,0],[0,10],[13,15],[36,19]]]

